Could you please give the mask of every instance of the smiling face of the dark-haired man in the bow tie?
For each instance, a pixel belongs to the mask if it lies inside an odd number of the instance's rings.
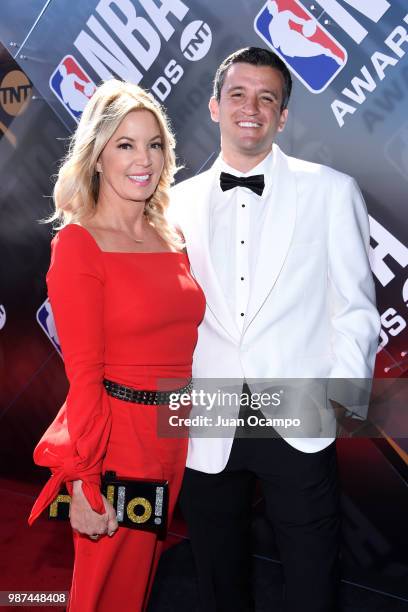
[[[237,62],[228,68],[220,101],[211,98],[211,118],[220,124],[223,158],[237,170],[246,172],[262,161],[276,133],[285,127],[283,87],[275,68]]]

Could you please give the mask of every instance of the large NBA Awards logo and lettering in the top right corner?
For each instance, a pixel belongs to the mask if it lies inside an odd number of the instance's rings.
[[[376,27],[381,26],[391,8],[388,0],[344,0],[344,4],[349,4],[355,12],[360,13],[365,24],[371,21]],[[373,33],[372,28],[369,32],[355,18],[355,13],[349,12],[338,0],[319,0],[319,5],[354,45],[361,45]],[[408,42],[405,24],[408,24],[408,15],[401,16],[401,22],[385,38],[384,48],[371,54],[371,64],[362,66],[360,72],[351,78],[350,86],[341,91],[342,97],[331,103],[339,127],[344,126],[348,115],[353,115],[364,104],[366,93],[375,91],[386,78],[386,69],[395,66],[404,57],[404,45]],[[314,94],[322,93],[337,79],[349,65],[349,55],[353,52],[349,45],[349,49],[345,49],[299,0],[267,0],[255,17],[254,29],[288,64],[295,77]]]

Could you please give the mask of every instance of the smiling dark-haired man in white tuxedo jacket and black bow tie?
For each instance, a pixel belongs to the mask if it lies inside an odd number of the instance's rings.
[[[209,104],[221,155],[173,190],[173,214],[207,299],[195,379],[251,387],[251,379],[372,376],[379,317],[365,205],[350,177],[274,144],[290,92],[290,73],[271,52],[251,47],[226,58]],[[181,503],[200,609],[254,609],[249,535],[259,478],[285,609],[331,612],[339,531],[333,437],[246,439],[240,429],[190,439]]]

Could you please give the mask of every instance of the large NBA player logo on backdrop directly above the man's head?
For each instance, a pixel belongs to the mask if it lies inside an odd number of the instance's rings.
[[[298,0],[268,0],[254,28],[312,93],[324,91],[346,65],[346,50]]]

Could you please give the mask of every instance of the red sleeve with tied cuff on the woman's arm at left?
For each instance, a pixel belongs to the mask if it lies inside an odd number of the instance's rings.
[[[93,238],[67,226],[52,241],[48,295],[61,343],[69,392],[34,451],[37,465],[52,476],[37,498],[29,524],[58,495],[81,479],[91,507],[104,513],[100,494],[102,461],[111,428],[104,377],[104,267]]]

